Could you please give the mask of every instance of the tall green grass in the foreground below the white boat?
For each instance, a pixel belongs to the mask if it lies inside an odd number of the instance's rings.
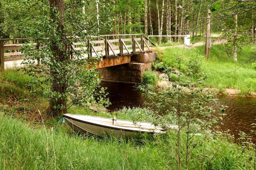
[[[176,146],[173,143],[175,132],[169,135],[116,139],[111,136],[102,138],[76,135],[69,133],[67,128],[70,127],[60,124],[56,132],[47,127],[33,129],[19,119],[0,113],[0,169],[177,169]],[[183,136],[186,136],[185,133]],[[236,144],[207,136],[198,136],[194,140],[195,152],[191,155],[190,170],[240,170],[239,167],[244,165],[243,168],[248,168],[247,157],[240,157],[241,151]],[[249,150],[243,152],[252,154]]]

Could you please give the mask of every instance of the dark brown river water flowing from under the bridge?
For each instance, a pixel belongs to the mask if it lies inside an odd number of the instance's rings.
[[[108,87],[108,97],[112,105],[109,110],[117,110],[124,106],[144,107],[144,97],[141,91],[137,91],[132,85],[101,83],[101,86]],[[231,130],[231,133],[238,137],[239,131],[250,134],[252,123],[256,123],[256,98],[254,97],[218,97],[218,103],[214,105],[215,109],[221,105],[228,106],[225,113],[227,116],[221,121],[220,125],[223,131]],[[256,130],[256,129],[254,129]],[[254,137],[256,140],[256,137]]]

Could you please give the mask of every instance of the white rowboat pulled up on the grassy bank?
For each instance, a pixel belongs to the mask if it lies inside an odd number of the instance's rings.
[[[64,114],[65,122],[75,131],[95,135],[134,136],[138,132],[165,133],[165,129],[150,122],[97,117],[89,115]],[[175,125],[173,125],[175,126]],[[176,127],[176,126],[175,126]],[[174,128],[175,128],[174,127]]]

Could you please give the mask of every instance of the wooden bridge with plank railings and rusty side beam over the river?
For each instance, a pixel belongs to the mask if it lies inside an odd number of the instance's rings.
[[[18,66],[23,61],[25,55],[22,53],[21,47],[25,42],[29,42],[34,48],[41,48],[31,38],[0,39],[0,66],[2,71],[4,68],[12,67],[8,62],[12,64],[16,62]],[[155,44],[143,34],[92,36],[92,40],[88,42],[75,42],[74,38],[74,42],[70,46],[70,59],[77,58],[74,51],[81,50],[84,53],[79,58],[101,58],[97,63],[97,68],[103,68],[129,63],[131,62],[130,57],[133,55],[152,53],[150,46],[155,46]],[[38,64],[40,64],[39,60]]]

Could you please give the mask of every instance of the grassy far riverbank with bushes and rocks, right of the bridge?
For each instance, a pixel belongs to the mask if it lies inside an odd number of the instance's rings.
[[[214,44],[208,60],[204,57],[204,46],[200,44],[191,49],[164,47],[157,51],[153,68],[160,72],[171,68],[180,72],[184,81],[202,88],[217,89],[220,95],[255,97],[256,69],[252,62],[248,62],[254,56],[254,46],[250,44],[240,49],[237,62],[227,55],[224,44]],[[177,60],[180,60],[179,64]],[[176,81],[175,73],[169,74],[174,75]],[[158,84],[166,86],[167,82],[161,80]]]

